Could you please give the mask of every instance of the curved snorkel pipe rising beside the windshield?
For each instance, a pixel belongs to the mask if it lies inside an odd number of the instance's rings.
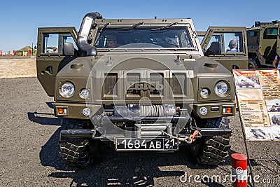
[[[87,52],[87,56],[97,55],[97,49],[94,46],[90,46],[90,43],[87,42],[87,37],[90,34],[90,29],[92,28],[95,19],[102,19],[102,15],[99,13],[87,13],[83,18],[78,34],[77,44],[79,48]]]

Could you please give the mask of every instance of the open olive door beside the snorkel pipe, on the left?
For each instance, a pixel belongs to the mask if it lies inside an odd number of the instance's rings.
[[[54,95],[57,73],[77,57],[77,36],[75,27],[38,28],[37,77],[49,96]]]

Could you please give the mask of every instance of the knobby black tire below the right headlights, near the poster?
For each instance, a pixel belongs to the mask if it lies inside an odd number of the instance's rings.
[[[207,128],[229,128],[228,118],[210,118]],[[221,165],[228,158],[230,150],[230,134],[223,136],[206,137],[200,146],[197,162],[201,165]]]

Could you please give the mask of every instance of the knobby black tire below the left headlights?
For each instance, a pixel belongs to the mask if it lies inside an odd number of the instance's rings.
[[[63,118],[62,130],[82,130],[85,120]],[[60,137],[60,152],[64,162],[73,166],[86,166],[90,164],[90,141],[84,138]]]

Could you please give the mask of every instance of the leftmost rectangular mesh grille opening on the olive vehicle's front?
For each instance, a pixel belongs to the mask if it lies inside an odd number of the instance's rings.
[[[118,95],[118,74],[104,74],[105,80],[103,84],[104,95]]]

